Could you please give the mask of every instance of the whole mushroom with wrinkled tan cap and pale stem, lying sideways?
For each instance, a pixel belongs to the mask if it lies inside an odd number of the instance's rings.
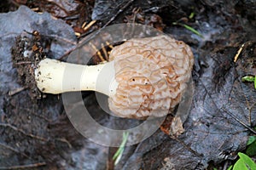
[[[35,77],[44,93],[97,91],[109,96],[109,108],[114,114],[142,119],[166,116],[172,111],[181,100],[193,64],[194,56],[187,44],[158,36],[128,40],[114,47],[109,62],[100,65],[43,59]],[[65,76],[69,70],[73,77]]]

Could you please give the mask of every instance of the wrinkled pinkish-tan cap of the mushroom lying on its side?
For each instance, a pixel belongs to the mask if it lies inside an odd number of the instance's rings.
[[[116,93],[109,109],[121,117],[166,116],[180,102],[194,65],[187,44],[166,35],[134,38],[113,48]]]

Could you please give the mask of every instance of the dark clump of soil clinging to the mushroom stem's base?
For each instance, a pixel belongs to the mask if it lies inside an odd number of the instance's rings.
[[[38,31],[31,33],[31,38],[27,36],[16,37],[15,45],[11,48],[13,66],[17,69],[18,80],[24,88],[29,88],[32,99],[43,97],[37,88],[34,70],[40,60],[46,57],[41,44],[42,37]],[[44,47],[49,46],[47,44]]]

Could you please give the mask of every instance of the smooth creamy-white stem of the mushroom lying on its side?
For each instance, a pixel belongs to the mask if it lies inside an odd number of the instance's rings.
[[[114,77],[113,61],[100,65],[75,65],[43,59],[35,70],[37,86],[47,94],[96,91],[112,96],[118,86]]]

